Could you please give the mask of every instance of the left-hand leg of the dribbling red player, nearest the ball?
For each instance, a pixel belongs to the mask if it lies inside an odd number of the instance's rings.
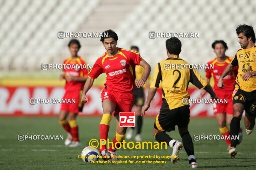
[[[111,100],[106,99],[102,102],[102,107],[103,116],[99,124],[99,135],[102,147],[99,149],[99,151],[102,156],[105,156],[105,158],[103,159],[107,160],[110,158],[111,155],[106,148],[106,141],[108,138],[109,124],[111,122],[112,113],[115,109],[115,106]]]

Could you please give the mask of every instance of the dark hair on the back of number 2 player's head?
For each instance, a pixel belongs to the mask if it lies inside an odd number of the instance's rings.
[[[181,52],[181,41],[176,37],[171,37],[165,41],[166,49],[170,54],[179,55]]]

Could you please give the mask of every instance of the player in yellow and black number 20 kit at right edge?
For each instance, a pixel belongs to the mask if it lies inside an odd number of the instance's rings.
[[[242,49],[236,52],[234,60],[225,68],[218,81],[218,87],[226,88],[223,79],[238,65],[238,75],[233,92],[234,116],[230,123],[231,147],[229,155],[231,158],[237,154],[236,136],[238,136],[243,111],[245,110],[244,124],[247,134],[251,134],[256,117],[255,32],[252,26],[243,24],[236,28],[236,34]]]

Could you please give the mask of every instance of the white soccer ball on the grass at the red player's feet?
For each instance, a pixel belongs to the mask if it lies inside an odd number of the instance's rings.
[[[86,163],[91,161],[98,161],[99,151],[97,149],[92,149],[88,146],[83,149],[81,157]]]

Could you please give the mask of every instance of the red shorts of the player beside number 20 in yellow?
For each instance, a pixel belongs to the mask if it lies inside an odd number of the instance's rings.
[[[220,99],[227,99],[227,103],[223,104],[213,104],[213,112],[214,114],[218,113],[227,113],[227,114],[234,114],[234,108],[233,108],[233,101],[232,101],[232,95],[233,92],[216,92],[216,95]]]

